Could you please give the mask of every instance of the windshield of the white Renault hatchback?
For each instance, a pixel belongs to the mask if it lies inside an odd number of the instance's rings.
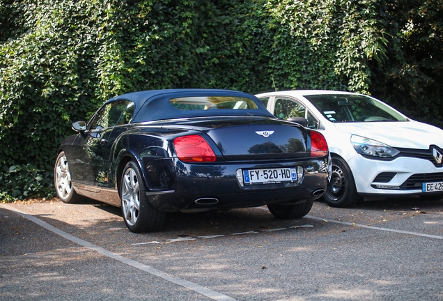
[[[334,123],[370,121],[407,121],[383,102],[365,95],[305,95],[323,116]]]

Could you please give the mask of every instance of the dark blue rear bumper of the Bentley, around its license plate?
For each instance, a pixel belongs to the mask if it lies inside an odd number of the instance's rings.
[[[267,203],[295,203],[318,199],[328,183],[329,160],[292,161],[266,164],[185,164],[177,161],[176,177],[169,193],[147,194],[152,205],[164,211],[230,209],[263,206]],[[301,166],[300,184],[272,183],[244,185],[238,169]]]

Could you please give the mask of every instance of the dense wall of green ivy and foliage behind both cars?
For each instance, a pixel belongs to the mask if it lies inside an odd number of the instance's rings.
[[[440,0],[0,0],[0,192],[47,193],[24,186],[49,187],[72,121],[128,91],[357,91],[441,126],[442,14]]]

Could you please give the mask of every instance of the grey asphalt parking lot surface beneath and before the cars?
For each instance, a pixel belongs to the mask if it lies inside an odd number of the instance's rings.
[[[128,231],[95,201],[0,203],[0,300],[443,300],[443,201],[172,213]]]

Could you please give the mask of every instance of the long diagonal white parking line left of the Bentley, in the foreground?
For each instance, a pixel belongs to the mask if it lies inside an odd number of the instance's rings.
[[[13,213],[16,213],[17,215],[20,215],[22,217],[25,217],[26,219],[29,219],[31,222],[34,222],[34,223],[38,224],[39,226],[42,226],[43,228],[45,228],[53,233],[56,233],[63,238],[66,238],[67,240],[75,242],[78,245],[81,245],[83,247],[91,249],[91,250],[98,252],[98,253],[100,253],[104,256],[107,256],[109,258],[115,259],[116,261],[120,261],[121,263],[131,265],[134,268],[137,268],[137,269],[142,270],[144,272],[148,272],[150,275],[160,277],[162,279],[165,279],[166,281],[172,282],[173,284],[178,284],[179,286],[189,288],[189,290],[192,290],[196,293],[200,293],[201,295],[205,295],[206,297],[208,297],[212,300],[236,301],[234,298],[231,298],[228,295],[223,295],[217,291],[212,291],[212,289],[206,288],[205,286],[201,286],[199,284],[194,284],[194,282],[187,281],[185,279],[180,279],[180,278],[175,277],[173,275],[169,275],[166,272],[162,272],[161,270],[151,268],[149,265],[144,265],[143,263],[139,263],[138,261],[134,261],[130,258],[126,258],[121,255],[115,254],[114,252],[111,252],[111,251],[104,249],[102,247],[98,247],[97,245],[94,245],[91,242],[87,242],[86,240],[82,240],[80,238],[72,236],[69,233],[61,231],[60,229],[57,229],[56,227],[51,226],[50,224],[47,224],[47,222],[43,222],[41,219],[33,217],[32,215],[28,215],[26,213],[23,213],[22,211],[17,210],[11,206],[0,204],[0,207],[3,209],[6,209],[6,210],[10,210]]]

